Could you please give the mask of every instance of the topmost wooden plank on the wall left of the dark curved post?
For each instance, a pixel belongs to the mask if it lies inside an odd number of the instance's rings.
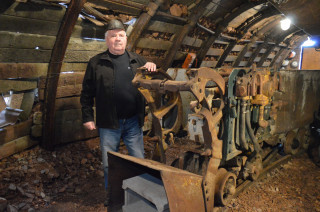
[[[63,6],[41,5],[29,1],[27,4],[14,2],[3,14],[36,20],[61,22],[65,12],[66,8]]]

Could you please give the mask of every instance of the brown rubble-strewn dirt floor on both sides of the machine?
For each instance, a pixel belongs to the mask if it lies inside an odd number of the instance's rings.
[[[150,157],[153,145],[145,147]],[[179,152],[173,148],[172,158]],[[99,141],[93,139],[53,152],[37,146],[1,160],[0,211],[107,211],[100,158]],[[320,211],[320,167],[300,154],[222,211]]]

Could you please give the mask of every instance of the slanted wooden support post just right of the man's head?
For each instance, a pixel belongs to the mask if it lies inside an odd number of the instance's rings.
[[[142,31],[145,29],[151,18],[156,14],[159,6],[162,5],[164,1],[165,0],[156,0],[155,2],[150,1],[147,6],[147,12],[144,12],[140,15],[128,38],[127,49],[129,51],[132,51],[136,47]]]

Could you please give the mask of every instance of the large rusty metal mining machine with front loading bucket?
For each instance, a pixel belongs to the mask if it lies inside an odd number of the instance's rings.
[[[184,79],[178,81],[181,71]],[[156,143],[153,159],[159,162],[110,152],[108,211],[124,204],[123,180],[144,173],[161,180],[172,212],[213,211],[226,205],[239,182],[256,180],[279,147],[286,154],[307,148],[307,125],[320,103],[314,98],[320,94],[319,80],[316,71],[255,67],[137,73],[133,84],[149,105],[151,140]],[[171,124],[165,121],[168,117],[174,119]],[[165,165],[165,151],[181,126],[199,148]]]

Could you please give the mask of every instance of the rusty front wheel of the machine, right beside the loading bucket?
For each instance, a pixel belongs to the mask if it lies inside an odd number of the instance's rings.
[[[215,189],[215,205],[225,206],[236,192],[237,177],[224,168],[218,170]]]

